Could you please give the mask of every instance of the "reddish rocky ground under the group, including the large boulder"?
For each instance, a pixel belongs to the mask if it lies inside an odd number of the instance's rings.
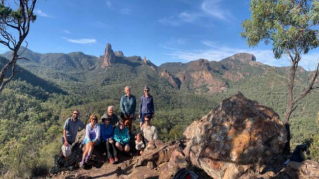
[[[283,163],[287,131],[271,108],[246,99],[240,92],[220,102],[209,114],[194,121],[178,142],[150,141],[139,156],[119,155],[110,164],[99,150],[79,169],[79,148],[68,161],[55,158],[52,179],[171,179],[182,168],[199,179],[319,179],[319,163]]]

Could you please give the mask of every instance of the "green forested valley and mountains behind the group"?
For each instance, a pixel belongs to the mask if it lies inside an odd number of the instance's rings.
[[[108,105],[114,105],[119,114],[119,99],[127,85],[132,86],[137,103],[143,87],[150,86],[156,110],[152,123],[165,141],[183,137],[193,120],[237,91],[273,108],[281,118],[286,110],[288,68],[264,65],[251,54],[157,67],[146,58],[126,57],[108,48],[99,57],[82,52],[24,53],[30,60],[18,64],[26,70],[0,94],[0,174],[47,172],[72,110],[80,110],[83,122],[93,113],[102,116]],[[9,58],[10,52],[2,56]],[[310,74],[299,69],[296,91],[303,89]],[[299,102],[291,119],[292,146],[318,139],[318,112],[318,92]]]

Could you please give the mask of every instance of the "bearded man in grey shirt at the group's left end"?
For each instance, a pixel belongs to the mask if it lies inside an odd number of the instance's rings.
[[[65,147],[68,144],[72,145],[72,143],[75,142],[78,131],[85,128],[85,125],[79,119],[79,115],[80,112],[78,110],[74,110],[72,117],[68,118],[64,123],[62,143]]]

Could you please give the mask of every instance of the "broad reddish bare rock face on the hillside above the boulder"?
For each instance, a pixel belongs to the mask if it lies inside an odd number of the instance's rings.
[[[207,70],[196,72],[181,72],[177,74],[180,81],[191,84],[191,88],[197,88],[206,85],[208,93],[219,93],[227,89],[228,85],[222,80],[213,77]]]

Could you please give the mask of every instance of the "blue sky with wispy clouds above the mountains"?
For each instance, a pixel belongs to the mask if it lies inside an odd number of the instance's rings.
[[[156,65],[199,58],[220,60],[248,52],[268,65],[271,46],[249,48],[240,37],[250,18],[249,0],[38,0],[37,20],[27,36],[32,51],[104,53],[106,43],[126,56],[146,56]],[[7,49],[0,47],[0,52]],[[319,51],[304,55],[301,65],[314,69]]]

